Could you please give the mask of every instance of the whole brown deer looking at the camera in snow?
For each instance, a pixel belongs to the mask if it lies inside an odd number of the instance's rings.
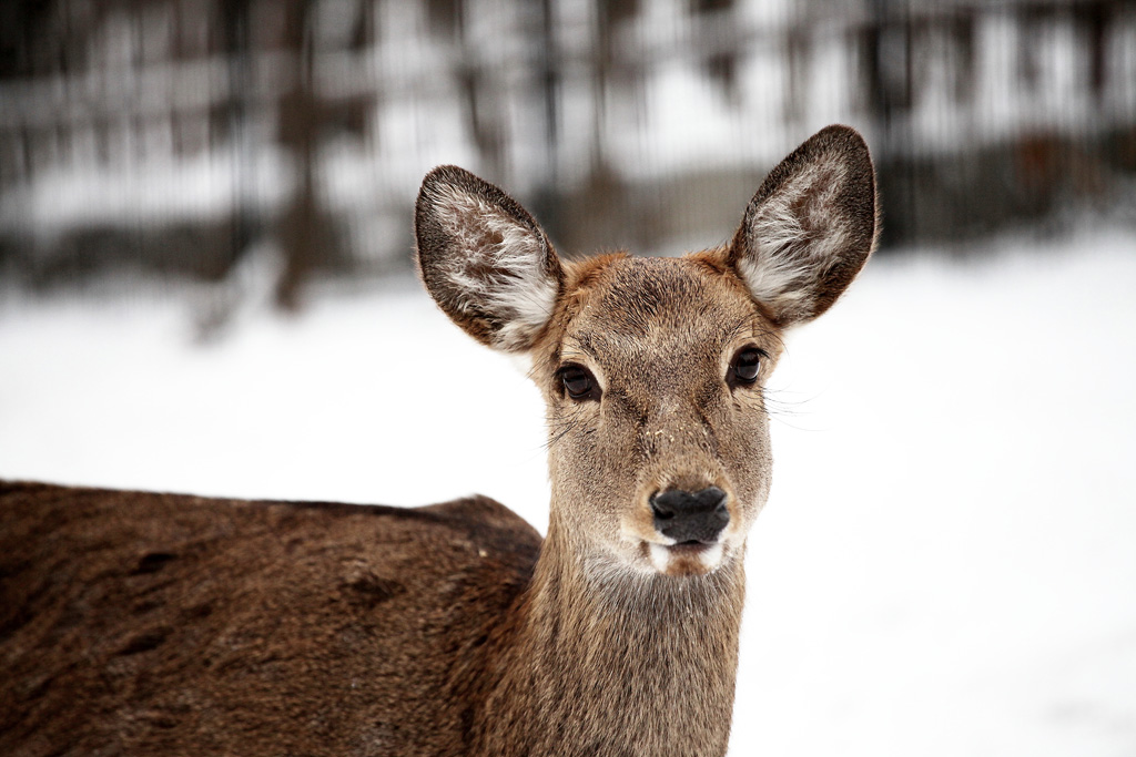
[[[435,168],[418,271],[531,363],[546,536],[483,496],[0,482],[0,754],[724,755],[765,387],[868,260],[876,208],[846,126],[776,166],[727,243],[673,258],[561,258],[502,190]],[[454,392],[492,392],[456,368]]]

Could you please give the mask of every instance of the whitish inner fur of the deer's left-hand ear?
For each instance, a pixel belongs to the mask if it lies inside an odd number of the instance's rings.
[[[495,346],[532,346],[557,301],[557,280],[545,266],[541,238],[476,195],[450,185],[437,194],[437,218],[462,252],[449,255],[441,268],[463,295],[458,306],[475,305],[501,321]]]

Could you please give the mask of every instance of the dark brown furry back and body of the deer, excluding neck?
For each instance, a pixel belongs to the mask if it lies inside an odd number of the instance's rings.
[[[540,544],[482,497],[0,482],[0,754],[462,754],[476,703],[446,695]]]

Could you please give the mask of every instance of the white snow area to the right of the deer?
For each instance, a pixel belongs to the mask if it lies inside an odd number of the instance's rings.
[[[1052,246],[876,261],[795,335],[736,754],[1136,749],[1136,239]]]

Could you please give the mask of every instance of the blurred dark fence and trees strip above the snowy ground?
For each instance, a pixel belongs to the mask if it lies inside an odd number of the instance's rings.
[[[408,269],[440,162],[567,251],[703,245],[830,123],[885,250],[1136,226],[1130,1],[8,0],[0,103],[0,271],[34,288],[268,255],[296,308]]]

